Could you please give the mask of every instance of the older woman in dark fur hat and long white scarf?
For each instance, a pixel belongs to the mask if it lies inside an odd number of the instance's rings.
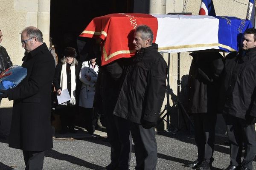
[[[53,84],[57,95],[61,95],[62,90],[67,89],[71,99],[64,103],[58,103],[58,113],[61,118],[61,133],[67,133],[67,127],[71,133],[74,130],[74,112],[76,105],[76,81],[79,73],[76,60],[76,49],[67,47],[64,51],[64,57],[55,68]]]

